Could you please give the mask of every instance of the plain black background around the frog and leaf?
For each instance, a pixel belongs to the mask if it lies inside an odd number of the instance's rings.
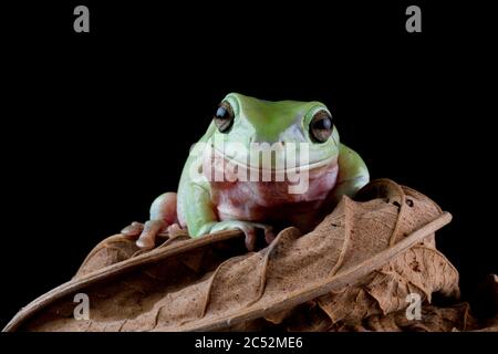
[[[3,11],[0,325],[176,190],[188,148],[229,92],[325,103],[372,178],[454,215],[437,242],[464,294],[496,272],[491,12],[414,1],[423,32],[407,33],[412,2],[373,2]],[[91,33],[73,32],[80,3]]]

